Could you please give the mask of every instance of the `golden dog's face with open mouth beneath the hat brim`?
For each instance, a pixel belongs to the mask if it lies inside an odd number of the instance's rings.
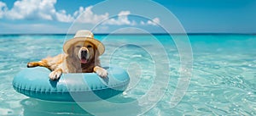
[[[96,55],[96,47],[90,41],[78,41],[67,51],[68,55],[76,58],[81,64],[87,64]]]

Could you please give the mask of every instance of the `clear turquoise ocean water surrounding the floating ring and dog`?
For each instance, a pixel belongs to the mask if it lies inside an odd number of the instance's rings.
[[[0,36],[0,115],[90,115],[76,103],[40,101],[26,97],[12,87],[14,76],[21,69],[26,69],[27,62],[61,53],[66,37],[72,36]],[[138,100],[159,79],[156,74],[162,73],[168,75],[168,80],[163,80],[168,85],[160,87],[165,91],[163,97],[155,102],[153,108],[139,113],[256,115],[255,35],[189,35],[193,53],[192,76],[185,96],[174,108],[171,98],[177,87],[181,61],[171,36],[96,35],[96,38],[106,46],[102,64],[115,64],[127,69],[133,84],[124,94],[111,98],[109,102]],[[158,96],[157,92],[155,94]],[[152,101],[148,99],[146,102]],[[132,112],[132,108],[130,110]],[[136,110],[144,109],[138,103]],[[133,113],[122,113],[129,114]]]

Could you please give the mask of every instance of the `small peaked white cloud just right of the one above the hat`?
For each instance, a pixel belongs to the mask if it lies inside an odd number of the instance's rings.
[[[130,21],[128,19],[129,14],[131,14],[130,11],[121,11],[117,19],[108,19],[104,22],[104,25],[136,25],[134,20]]]

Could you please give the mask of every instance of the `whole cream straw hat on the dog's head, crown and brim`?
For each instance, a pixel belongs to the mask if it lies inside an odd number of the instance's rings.
[[[90,30],[79,30],[77,31],[76,35],[73,36],[73,39],[66,41],[63,45],[63,51],[67,53],[69,47],[71,47],[77,41],[90,41],[97,47],[98,52],[100,55],[103,54],[105,51],[105,47],[101,41],[94,39],[94,36]]]

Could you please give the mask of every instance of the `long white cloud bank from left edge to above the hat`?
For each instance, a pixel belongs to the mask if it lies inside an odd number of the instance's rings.
[[[60,22],[73,22],[79,16],[80,23],[96,24],[102,19],[108,18],[106,14],[94,14],[91,11],[92,6],[83,8],[80,7],[73,15],[67,14],[65,10],[56,11],[56,0],[21,0],[14,3],[14,7],[3,11],[0,10],[0,18],[3,16],[6,19],[46,19],[57,20]],[[0,8],[6,8],[5,3],[0,3]]]

